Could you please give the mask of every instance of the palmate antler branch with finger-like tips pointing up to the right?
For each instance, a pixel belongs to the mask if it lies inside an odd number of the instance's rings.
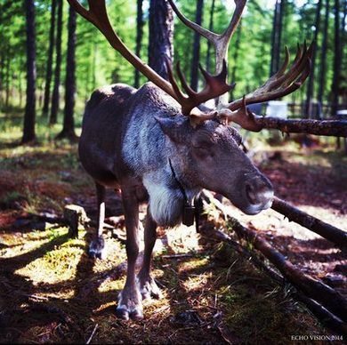
[[[276,100],[298,89],[310,74],[312,50],[313,43],[308,49],[306,44],[303,44],[303,50],[298,47],[295,60],[287,72],[284,73],[282,71],[286,65],[285,61],[282,68],[275,75],[271,76],[265,84],[246,95],[246,104]],[[227,108],[236,110],[241,107],[242,101],[243,99],[234,100]]]

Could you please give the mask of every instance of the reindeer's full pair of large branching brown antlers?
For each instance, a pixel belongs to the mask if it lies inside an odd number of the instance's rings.
[[[99,28],[101,33],[108,39],[109,44],[111,44],[117,52],[120,52],[134,68],[137,68],[144,76],[147,76],[151,82],[177,100],[182,106],[182,114],[191,116],[193,121],[204,121],[217,114],[217,116],[222,117],[226,121],[236,122],[248,130],[259,131],[259,124],[256,124],[256,118],[246,109],[246,104],[275,100],[294,92],[303,84],[304,80],[310,74],[313,45],[311,44],[308,49],[306,44],[303,44],[303,49],[298,45],[295,60],[287,71],[286,68],[289,63],[289,52],[286,48],[286,59],[283,66],[279,68],[278,72],[271,76],[265,84],[254,92],[246,94],[242,99],[234,100],[229,104],[227,101],[222,101],[221,96],[227,95],[227,92],[229,92],[235,85],[227,83],[226,56],[230,38],[241,19],[242,12],[246,5],[246,0],[235,0],[235,12],[232,15],[228,28],[226,28],[222,35],[215,34],[206,28],[202,28],[193,21],[188,20],[178,10],[176,5],[173,3],[173,0],[168,0],[173,7],[173,11],[176,12],[182,22],[189,28],[197,31],[200,35],[205,36],[206,39],[214,44],[215,48],[217,75],[212,76],[208,74],[206,70],[200,66],[201,73],[206,80],[206,85],[201,92],[195,92],[190,88],[185,76],[182,74],[180,65],[177,64],[177,75],[179,76],[183,90],[187,92],[186,94],[180,90],[177,81],[173,76],[173,68],[170,63],[166,62],[169,76],[169,82],[167,82],[126,47],[109,22],[105,0],[88,0],[89,10],[86,10],[78,0],[68,1],[76,12],[85,17],[86,20],[92,22],[96,28]],[[195,112],[191,113],[193,108],[206,100],[211,100],[213,98],[219,98],[219,110],[217,113],[215,111],[208,114],[201,112],[198,114]]]

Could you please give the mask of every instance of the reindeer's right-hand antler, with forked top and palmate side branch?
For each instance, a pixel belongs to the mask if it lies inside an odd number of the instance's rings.
[[[230,38],[238,26],[241,14],[246,5],[246,0],[235,0],[235,12],[233,13],[228,28],[222,35],[202,28],[197,23],[187,19],[173,3],[173,0],[168,1],[173,7],[173,11],[186,26],[197,31],[201,36],[206,37],[206,39],[214,45],[216,70],[220,71],[222,68],[222,61],[225,60],[227,55]],[[220,98],[217,116],[226,122],[232,121],[240,124],[247,130],[259,132],[262,126],[256,123],[256,116],[246,108],[246,105],[267,100],[276,100],[279,97],[295,92],[295,90],[303,84],[307,76],[310,75],[312,50],[313,44],[311,44],[308,49],[306,44],[303,44],[303,49],[298,44],[295,60],[292,66],[286,71],[290,60],[289,52],[286,48],[285,61],[282,67],[278,69],[277,73],[271,76],[265,84],[262,84],[262,86],[257,88],[254,92],[246,94],[243,98],[234,100],[230,103],[228,103],[228,100]],[[198,116],[198,118],[204,120],[211,118],[213,115],[214,112],[211,112],[209,114],[202,114]]]

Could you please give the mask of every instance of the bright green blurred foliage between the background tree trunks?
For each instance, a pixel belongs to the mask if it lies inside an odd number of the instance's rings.
[[[68,40],[68,9],[69,4],[65,1],[63,8],[63,33],[62,33],[62,66],[61,86],[65,80],[66,47]],[[196,4],[194,0],[176,0],[181,11],[190,19],[195,20]],[[343,3],[343,2],[342,2]],[[36,4],[36,108],[40,114],[44,93],[44,77],[49,44],[49,26],[51,17],[51,0],[38,0]],[[84,3],[86,4],[86,2]],[[136,1],[135,0],[113,0],[107,2],[109,18],[122,40],[134,51],[136,36]],[[212,0],[204,2],[203,26],[208,28],[210,21],[210,9]],[[314,35],[314,20],[317,7],[316,0],[287,0],[286,11],[283,21],[281,58],[284,57],[284,46],[287,45],[290,52],[295,54],[296,44],[304,40],[311,42]],[[232,15],[234,4],[231,1],[215,1],[214,31],[222,33],[228,26]],[[148,17],[149,2],[143,3],[145,26],[143,30],[141,59],[147,61],[148,52]],[[334,59],[334,13],[330,6],[328,50],[327,50],[327,78],[325,100],[329,100],[329,93],[333,77]],[[26,35],[25,17],[23,16],[23,2],[21,0],[0,1],[0,108],[18,107],[20,112],[25,104],[26,88]],[[325,6],[322,6],[321,25],[317,42],[317,58],[315,68],[315,90],[317,95],[320,49],[322,45],[322,31]],[[341,22],[343,20],[343,5],[340,6]],[[274,1],[249,0],[242,19],[240,46],[238,48],[238,59],[235,60],[236,36],[230,42],[229,69],[235,66],[236,75],[235,97],[245,92],[252,91],[269,77],[270,70],[270,44],[272,33],[272,22],[274,14]],[[182,69],[190,80],[190,69],[192,59],[192,44],[194,33],[182,25],[175,16],[174,19],[174,60],[181,61]],[[342,42],[345,43],[344,32]],[[346,56],[346,44],[344,44],[342,56]],[[200,63],[206,66],[206,39],[201,39]],[[77,121],[82,116],[82,108],[85,101],[89,99],[91,92],[103,84],[125,83],[133,84],[133,67],[127,63],[110,46],[104,36],[93,27],[91,23],[77,16]],[[212,55],[214,52],[212,52]],[[54,61],[53,61],[54,65]],[[212,61],[213,66],[213,61]],[[54,66],[53,66],[54,68]],[[347,61],[342,61],[342,82],[347,75]],[[214,70],[212,70],[214,72]],[[230,74],[231,77],[231,74]],[[200,78],[201,79],[201,78]],[[141,83],[146,78],[141,76]],[[231,80],[230,80],[231,82]],[[202,80],[200,80],[202,87]],[[9,92],[6,92],[8,89]],[[291,100],[303,100],[305,88],[295,92],[295,95],[287,96]],[[63,92],[61,87],[61,110],[63,108]],[[9,101],[6,101],[6,93]],[[4,109],[7,111],[7,109]],[[20,115],[21,116],[21,115]],[[20,124],[21,126],[21,124]]]

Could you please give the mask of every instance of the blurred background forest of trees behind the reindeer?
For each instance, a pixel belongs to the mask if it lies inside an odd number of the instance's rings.
[[[242,96],[273,74],[284,59],[285,45],[294,59],[296,44],[314,39],[316,51],[311,78],[286,100],[300,105],[294,115],[302,117],[335,116],[337,109],[347,108],[346,1],[249,0],[230,43],[230,82],[237,83],[230,98]],[[68,76],[67,64],[71,63],[68,55],[72,49],[69,4],[61,0],[33,2],[34,22],[25,11],[29,3],[28,0],[0,1],[0,109],[3,113],[12,108],[22,109],[24,118],[26,104],[27,111],[33,108],[32,101],[28,104],[32,96],[26,96],[28,83],[33,87],[32,81],[27,80],[32,72],[26,67],[28,58],[31,59],[28,52],[33,50],[36,53],[36,109],[32,111],[36,117],[49,116],[50,124],[62,124],[63,109],[68,107],[71,113],[71,104],[72,114],[75,113],[79,123],[85,101],[98,86],[119,82],[137,86],[146,81],[80,16],[77,16],[76,42],[73,43],[76,71],[73,77]],[[158,22],[150,20],[150,9],[160,10],[161,3],[154,0],[108,2],[109,16],[119,36],[142,60],[152,65],[158,62],[155,49],[160,47],[155,47]],[[222,32],[227,26],[234,6],[231,0],[177,0],[176,4],[190,20],[201,20],[206,28],[216,32]],[[204,38],[195,37],[175,16],[173,21],[173,61],[180,60],[192,87],[201,88],[198,61],[214,72],[212,49]],[[36,32],[29,38],[28,22]],[[71,83],[76,83],[76,87],[70,87]],[[75,96],[72,99],[65,94],[71,92]],[[72,100],[76,100],[75,108]]]

